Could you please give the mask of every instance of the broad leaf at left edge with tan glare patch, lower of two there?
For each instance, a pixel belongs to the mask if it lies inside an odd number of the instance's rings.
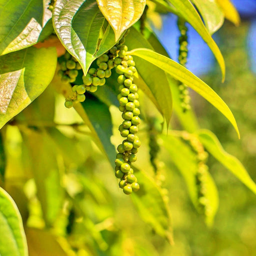
[[[0,56],[0,128],[43,92],[56,62],[53,47],[30,47]]]

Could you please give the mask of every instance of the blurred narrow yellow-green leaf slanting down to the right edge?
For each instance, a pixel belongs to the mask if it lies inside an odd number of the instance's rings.
[[[206,129],[199,130],[197,134],[207,151],[256,194],[256,184],[250,178],[246,169],[236,157],[223,149],[216,135]]]

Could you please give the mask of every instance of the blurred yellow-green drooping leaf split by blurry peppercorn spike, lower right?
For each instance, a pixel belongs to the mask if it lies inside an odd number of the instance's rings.
[[[168,136],[161,135],[161,138],[162,145],[169,152],[170,160],[174,163],[185,180],[192,203],[194,204],[195,208],[198,209],[197,188],[195,180],[195,173],[198,166],[194,152],[192,152],[191,148],[187,144],[182,142],[179,138],[175,137],[175,134],[174,136],[171,134]],[[207,215],[205,216],[205,222],[208,225],[211,225],[218,208],[218,193],[216,185],[211,175],[207,171],[204,185],[206,187],[205,198],[208,201],[208,211]]]

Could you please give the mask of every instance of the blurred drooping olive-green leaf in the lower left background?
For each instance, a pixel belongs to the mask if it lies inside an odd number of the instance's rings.
[[[60,213],[64,189],[61,185],[58,150],[43,128],[34,127],[23,134],[31,161],[37,197],[47,226],[51,226]]]

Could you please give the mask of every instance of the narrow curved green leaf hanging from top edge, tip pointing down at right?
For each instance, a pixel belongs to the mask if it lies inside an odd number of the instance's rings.
[[[197,13],[196,9],[192,5],[192,3],[189,0],[168,0],[177,10],[177,12],[188,22],[191,24],[191,26],[199,33],[199,35],[202,37],[202,39],[208,44],[210,49],[212,50],[213,54],[215,55],[221,72],[222,72],[222,80],[224,80],[225,77],[225,63],[223,56],[217,46],[217,44],[214,42],[214,40],[211,38],[208,30],[204,26],[199,14]]]

